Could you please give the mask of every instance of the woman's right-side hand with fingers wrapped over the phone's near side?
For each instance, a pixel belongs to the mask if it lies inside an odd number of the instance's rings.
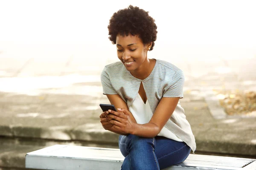
[[[128,111],[125,108],[118,109],[119,112],[108,110],[111,114],[108,117],[112,118],[108,122],[113,125],[113,128],[118,130],[121,133],[129,133],[133,134],[134,130],[136,129],[134,126],[136,123],[131,121]]]

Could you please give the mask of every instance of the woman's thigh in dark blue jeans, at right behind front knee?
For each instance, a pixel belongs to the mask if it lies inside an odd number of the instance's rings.
[[[155,154],[160,169],[184,161],[191,151],[185,142],[177,142],[163,136],[156,136]]]

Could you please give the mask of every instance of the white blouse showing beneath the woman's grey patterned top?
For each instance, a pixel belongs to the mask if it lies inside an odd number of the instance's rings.
[[[148,123],[151,117],[153,116],[148,100],[146,101],[145,104],[139,93],[137,94],[136,99],[134,100],[132,105],[129,107],[129,110],[138,124]],[[173,139],[178,142],[183,142],[166,127],[163,127],[163,129],[157,136],[164,136],[166,138]]]

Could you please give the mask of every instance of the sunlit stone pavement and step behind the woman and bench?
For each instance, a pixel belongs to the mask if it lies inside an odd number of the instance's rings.
[[[161,58],[162,59],[162,58]],[[200,154],[256,158],[256,116],[216,116],[216,89],[256,91],[256,57],[175,60],[186,76],[180,99]],[[53,144],[118,147],[99,122],[103,58],[0,54],[0,167],[24,167],[25,154]],[[95,64],[97,63],[97,64]]]

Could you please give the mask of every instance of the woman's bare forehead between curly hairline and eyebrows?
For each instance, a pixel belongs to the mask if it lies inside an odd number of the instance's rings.
[[[131,35],[128,34],[128,36],[122,36],[120,34],[117,34],[116,36],[116,44],[126,46],[128,44],[142,44],[142,40],[137,35]]]

